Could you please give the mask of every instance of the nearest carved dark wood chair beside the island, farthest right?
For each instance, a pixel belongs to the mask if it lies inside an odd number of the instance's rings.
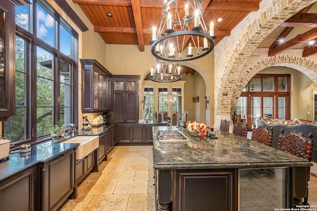
[[[302,132],[295,129],[288,131],[285,135],[283,133],[284,129],[281,129],[277,147],[284,152],[308,159],[311,162],[313,154],[313,133],[309,133],[308,138],[306,138]],[[307,182],[310,180],[310,169],[310,167],[307,168],[306,172]],[[304,197],[302,204],[308,205],[308,188],[307,195]]]

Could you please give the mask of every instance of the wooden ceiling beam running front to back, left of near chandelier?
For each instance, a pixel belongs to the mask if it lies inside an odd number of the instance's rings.
[[[142,25],[142,13],[140,0],[131,0],[133,17],[135,22],[135,28],[137,31],[137,37],[139,42],[139,50],[144,52],[144,35],[143,35],[143,25]]]

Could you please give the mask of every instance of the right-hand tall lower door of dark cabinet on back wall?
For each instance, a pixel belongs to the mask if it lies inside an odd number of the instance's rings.
[[[126,122],[136,123],[139,118],[138,93],[126,93]]]

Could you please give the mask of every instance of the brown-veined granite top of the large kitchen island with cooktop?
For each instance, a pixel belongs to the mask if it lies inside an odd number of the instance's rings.
[[[159,141],[158,130],[180,130],[188,141]],[[216,138],[191,137],[182,127],[153,127],[155,169],[309,167],[311,162],[262,143],[216,130]]]

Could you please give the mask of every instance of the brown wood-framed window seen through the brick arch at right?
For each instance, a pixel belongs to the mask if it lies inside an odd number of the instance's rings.
[[[259,117],[290,119],[289,105],[290,75],[257,74],[241,92],[237,115],[241,115],[251,128],[259,124]]]

